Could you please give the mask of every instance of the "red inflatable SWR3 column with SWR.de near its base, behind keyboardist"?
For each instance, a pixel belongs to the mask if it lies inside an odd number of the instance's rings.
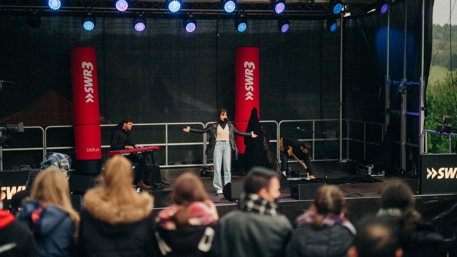
[[[98,173],[101,162],[100,108],[98,106],[95,48],[70,48],[73,87],[74,141],[80,173]]]

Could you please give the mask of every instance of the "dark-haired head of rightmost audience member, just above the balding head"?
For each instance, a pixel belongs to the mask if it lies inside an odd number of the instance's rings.
[[[402,211],[408,208],[415,208],[416,199],[413,191],[404,182],[396,182],[383,190],[381,195],[381,208],[397,208]]]

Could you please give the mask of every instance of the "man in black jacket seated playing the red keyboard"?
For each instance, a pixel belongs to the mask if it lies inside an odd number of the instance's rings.
[[[130,130],[133,126],[133,119],[130,116],[122,118],[122,122],[116,125],[116,128],[111,134],[111,150],[134,149],[143,147],[132,143]],[[133,182],[137,188],[149,189],[150,186],[144,184],[144,175],[146,173],[146,160],[143,155],[129,155],[127,157],[133,163],[138,163],[139,167],[135,173],[135,181]]]

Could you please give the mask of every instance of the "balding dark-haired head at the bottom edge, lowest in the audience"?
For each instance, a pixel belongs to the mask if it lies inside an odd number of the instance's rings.
[[[384,217],[370,216],[356,227],[354,244],[348,257],[401,257],[403,250],[397,229]]]

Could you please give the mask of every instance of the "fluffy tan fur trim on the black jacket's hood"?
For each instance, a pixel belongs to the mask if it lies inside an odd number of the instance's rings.
[[[93,188],[84,195],[84,209],[94,218],[111,225],[128,224],[147,218],[154,207],[154,198],[148,193],[139,193],[138,205],[113,206],[105,197],[103,188]]]

